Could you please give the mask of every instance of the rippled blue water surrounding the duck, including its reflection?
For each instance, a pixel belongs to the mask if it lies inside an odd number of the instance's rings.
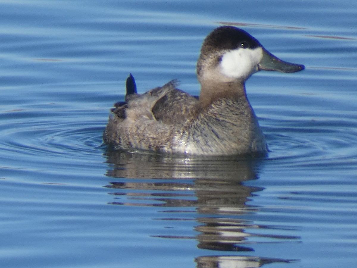
[[[355,267],[356,1],[0,1],[1,267]],[[263,159],[112,152],[109,108],[238,25],[305,64],[247,94]]]

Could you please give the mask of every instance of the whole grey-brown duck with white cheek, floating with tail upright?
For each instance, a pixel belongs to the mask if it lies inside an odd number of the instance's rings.
[[[129,152],[267,155],[245,82],[261,70],[303,69],[304,65],[278,59],[245,30],[220,26],[203,40],[196,68],[199,96],[178,89],[177,80],[138,94],[130,74],[125,101],[111,109],[103,140]]]

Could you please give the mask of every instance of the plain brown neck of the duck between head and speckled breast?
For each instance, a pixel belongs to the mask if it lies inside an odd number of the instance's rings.
[[[201,108],[207,108],[214,101],[222,98],[246,98],[244,83],[240,81],[217,83],[214,81],[201,82],[201,93],[198,102]]]

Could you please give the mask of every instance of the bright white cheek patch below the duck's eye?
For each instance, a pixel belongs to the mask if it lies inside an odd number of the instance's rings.
[[[220,67],[222,74],[228,77],[246,79],[258,71],[257,65],[263,58],[263,49],[236,49],[225,53]]]

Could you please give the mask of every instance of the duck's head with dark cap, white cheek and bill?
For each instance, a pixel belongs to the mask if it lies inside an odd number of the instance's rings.
[[[233,26],[221,26],[203,41],[197,61],[197,77],[201,85],[244,84],[259,70],[293,73],[304,68],[304,65],[278,59],[246,31]]]

